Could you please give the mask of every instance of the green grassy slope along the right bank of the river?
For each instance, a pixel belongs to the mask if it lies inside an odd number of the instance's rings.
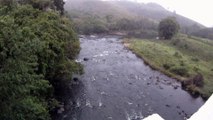
[[[204,76],[204,87],[191,88],[204,96],[213,93],[213,41],[181,35],[170,41],[130,40],[129,48],[155,69],[184,81],[200,72]],[[164,65],[169,66],[165,69]],[[177,75],[172,70],[183,68],[188,74]]]

